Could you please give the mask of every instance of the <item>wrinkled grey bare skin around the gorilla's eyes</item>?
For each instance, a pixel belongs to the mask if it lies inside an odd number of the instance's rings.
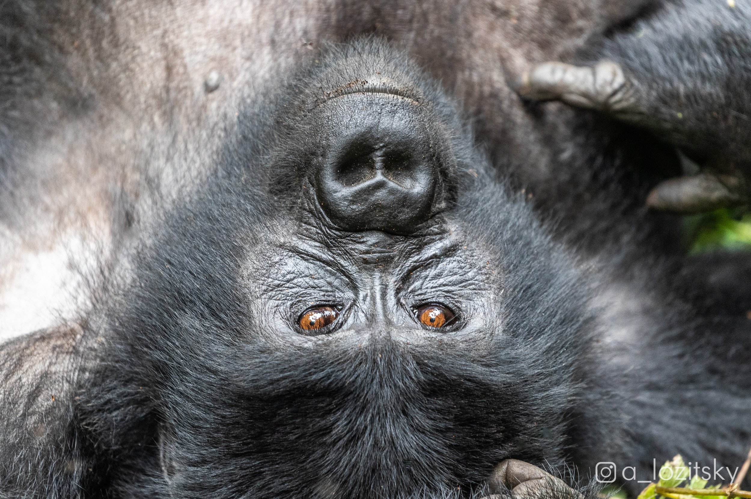
[[[248,264],[247,278],[258,285],[252,300],[263,307],[264,326],[272,326],[275,336],[288,330],[285,341],[310,345],[323,341],[321,335],[360,335],[359,342],[367,343],[375,331],[376,336],[420,343],[448,332],[465,334],[469,329],[477,334],[487,329],[487,320],[495,320],[491,297],[499,291],[493,291],[499,279],[491,281],[493,271],[467,251],[466,241],[456,233],[419,239],[375,231],[344,233],[336,239],[312,235],[306,230],[279,241],[261,260],[256,257]],[[430,303],[444,305],[454,320],[441,328],[421,325],[417,311]],[[320,331],[301,331],[297,317],[325,305],[335,308],[339,317]]]

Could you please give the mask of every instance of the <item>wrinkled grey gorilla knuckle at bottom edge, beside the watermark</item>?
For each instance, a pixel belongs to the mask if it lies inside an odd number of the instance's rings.
[[[487,480],[490,489],[489,497],[503,497],[504,492],[511,491],[514,497],[518,499],[541,497],[545,491],[555,490],[565,492],[569,497],[581,497],[578,491],[566,485],[562,479],[542,470],[533,464],[517,459],[506,459],[501,461],[490,478]]]

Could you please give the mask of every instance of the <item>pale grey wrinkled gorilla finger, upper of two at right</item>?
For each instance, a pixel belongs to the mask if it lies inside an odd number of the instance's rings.
[[[517,92],[538,101],[559,100],[611,113],[637,113],[635,86],[620,65],[602,61],[593,67],[543,62],[526,71]]]

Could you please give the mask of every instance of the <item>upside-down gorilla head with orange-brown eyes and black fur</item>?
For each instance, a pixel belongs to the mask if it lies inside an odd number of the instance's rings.
[[[122,488],[465,494],[503,458],[558,464],[586,324],[566,257],[400,56],[298,81],[105,310],[83,417]]]

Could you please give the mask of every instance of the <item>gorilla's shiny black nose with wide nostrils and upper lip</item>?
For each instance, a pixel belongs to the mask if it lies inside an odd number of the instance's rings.
[[[335,101],[323,110],[338,126],[327,134],[315,175],[321,208],[343,230],[413,232],[440,204],[442,164],[430,113],[383,93]]]

